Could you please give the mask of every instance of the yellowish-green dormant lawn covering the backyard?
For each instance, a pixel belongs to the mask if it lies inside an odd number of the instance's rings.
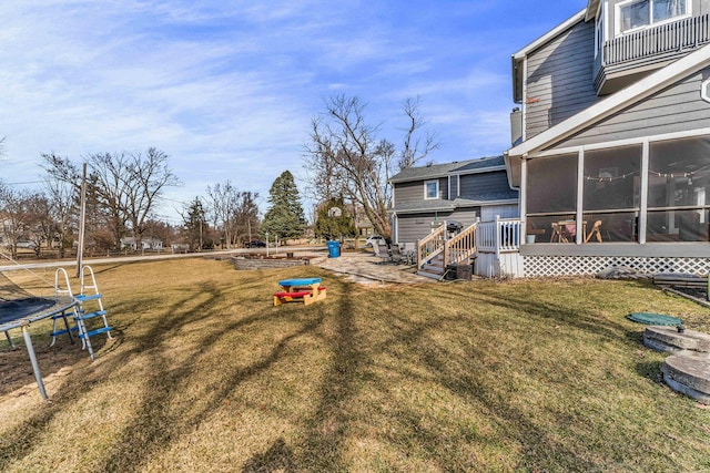
[[[710,311],[645,282],[94,269],[115,340],[94,338],[91,363],[34,325],[50,403],[0,341],[0,471],[710,470],[710,410],[662,383],[625,318],[710,331]],[[273,307],[278,279],[306,276],[327,299]]]

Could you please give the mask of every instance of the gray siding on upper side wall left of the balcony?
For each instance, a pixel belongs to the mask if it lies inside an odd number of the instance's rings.
[[[528,55],[527,140],[599,100],[592,82],[594,48],[595,23],[579,22]]]

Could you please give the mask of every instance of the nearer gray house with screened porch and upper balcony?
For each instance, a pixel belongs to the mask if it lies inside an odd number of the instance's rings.
[[[710,0],[589,0],[513,94],[526,276],[710,269]]]

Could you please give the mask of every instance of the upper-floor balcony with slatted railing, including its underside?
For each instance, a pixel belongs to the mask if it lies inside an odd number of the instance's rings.
[[[710,43],[710,14],[684,18],[606,41],[595,59],[598,95],[608,95]]]

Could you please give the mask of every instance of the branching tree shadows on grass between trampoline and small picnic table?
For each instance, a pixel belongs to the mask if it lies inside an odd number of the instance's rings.
[[[205,298],[197,306],[193,301],[193,291],[195,290]],[[179,385],[182,380],[199,373],[194,372],[195,368],[194,363],[191,362],[192,360],[182,362],[175,369],[168,369],[169,361],[172,360],[165,359],[164,354],[160,350],[155,350],[155,348],[169,341],[171,337],[180,332],[189,323],[210,318],[214,312],[219,313],[220,306],[226,302],[221,296],[221,290],[210,285],[193,288],[192,291],[185,291],[185,296],[164,311],[164,317],[154,317],[151,322],[143,322],[144,325],[150,323],[150,326],[143,327],[144,331],[141,335],[133,332],[130,343],[126,343],[120,353],[102,359],[100,371],[92,370],[91,374],[83,373],[83,376],[72,377],[52,397],[51,404],[42,404],[32,417],[3,434],[0,440],[0,452],[2,452],[0,454],[0,470],[7,466],[10,461],[20,459],[31,452],[39,439],[42,438],[45,425],[51,422],[53,417],[61,412],[63,408],[80,402],[80,399],[92,389],[93,383],[106,379],[131,359],[141,356],[146,358],[145,362],[150,364],[152,370],[151,379],[145,383],[145,398],[142,400],[139,411],[130,413],[134,418],[134,422],[123,430],[123,434],[108,450],[110,452],[109,456],[98,467],[98,471],[138,470],[150,459],[152,453],[168,448],[171,441],[180,433],[197,425],[204,415],[209,413],[209,410],[220,404],[226,393],[239,385],[240,382],[265,370],[278,358],[290,340],[301,333],[314,330],[321,322],[316,319],[304,323],[300,330],[277,343],[272,353],[265,359],[233,373],[232,383],[223,391],[213,393],[212,401],[197,414],[184,417],[169,414],[164,408],[170,405],[171,400],[178,395],[170,388]],[[155,301],[159,301],[158,297]],[[129,319],[132,318],[133,320],[129,321],[129,325],[138,323],[140,308],[146,302],[150,304],[146,300],[120,304],[113,307],[113,310],[118,313],[123,312]],[[200,342],[205,347],[210,347],[220,338],[229,337],[229,333],[233,330],[239,330],[255,322],[267,323],[270,319],[275,317],[277,317],[275,312],[271,316],[254,312],[251,316],[222,323],[219,330],[205,332]]]

